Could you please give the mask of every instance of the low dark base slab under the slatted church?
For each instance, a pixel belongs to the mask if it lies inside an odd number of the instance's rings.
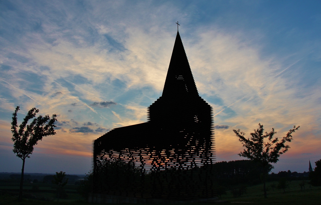
[[[143,198],[134,198],[126,196],[114,196],[107,194],[95,194],[89,193],[88,202],[89,203],[100,203],[100,204],[120,204],[120,203],[129,203],[129,204],[178,204],[178,203],[195,203],[201,201],[216,201],[218,197],[207,198],[207,199],[196,199],[190,201],[175,201],[175,200],[164,200],[164,199],[143,199]]]

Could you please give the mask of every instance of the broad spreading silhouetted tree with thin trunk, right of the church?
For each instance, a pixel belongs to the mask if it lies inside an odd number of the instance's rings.
[[[279,141],[278,138],[274,138],[274,128],[272,131],[267,133],[265,132],[263,125],[259,123],[259,128],[255,129],[253,133],[250,133],[251,138],[245,138],[244,132],[241,132],[240,129],[235,130],[233,129],[236,136],[239,138],[239,141],[242,143],[244,149],[242,152],[239,153],[239,156],[246,157],[250,160],[259,162],[263,167],[263,191],[264,191],[264,198],[266,198],[266,189],[265,189],[265,168],[269,163],[276,163],[279,161],[280,155],[287,152],[290,148],[289,145],[284,145],[286,142],[292,141],[292,133],[295,130],[298,130],[300,126],[290,129],[289,132],[286,134],[285,137]],[[266,141],[265,138],[267,138]]]

